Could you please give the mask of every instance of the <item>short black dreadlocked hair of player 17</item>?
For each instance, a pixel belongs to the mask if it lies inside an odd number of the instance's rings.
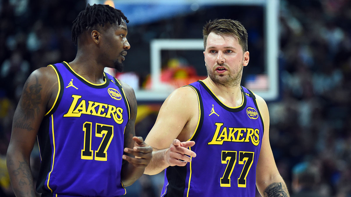
[[[88,4],[85,10],[81,11],[73,21],[72,42],[77,45],[78,36],[89,28],[96,25],[104,27],[107,22],[113,24],[116,21],[118,21],[118,25],[121,25],[122,19],[129,22],[119,9],[103,4],[94,4],[93,6]]]

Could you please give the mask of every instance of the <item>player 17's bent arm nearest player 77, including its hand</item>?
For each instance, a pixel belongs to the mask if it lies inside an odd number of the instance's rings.
[[[121,82],[121,81],[120,81]],[[122,156],[127,162],[123,162],[121,169],[121,181],[124,186],[132,185],[150,163],[152,148],[147,145],[142,137],[135,136],[135,118],[137,117],[137,99],[131,86],[121,82],[130,105],[130,119],[124,132],[124,151]]]

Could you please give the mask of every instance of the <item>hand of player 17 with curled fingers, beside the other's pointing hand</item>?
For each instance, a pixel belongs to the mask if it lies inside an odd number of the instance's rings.
[[[133,149],[124,148],[124,152],[127,152],[134,157],[123,155],[122,158],[129,163],[133,164],[137,168],[145,168],[151,161],[152,158],[152,147],[147,145],[142,137],[133,137],[134,147]]]

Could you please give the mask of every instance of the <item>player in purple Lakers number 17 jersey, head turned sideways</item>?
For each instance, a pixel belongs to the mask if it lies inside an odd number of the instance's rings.
[[[16,196],[35,196],[29,157],[36,140],[42,197],[120,196],[143,174],[152,148],[134,136],[134,91],[104,73],[105,67],[122,70],[127,22],[118,9],[88,5],[73,21],[75,59],[28,77],[7,152]]]

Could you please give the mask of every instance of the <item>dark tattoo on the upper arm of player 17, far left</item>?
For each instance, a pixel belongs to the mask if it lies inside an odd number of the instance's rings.
[[[33,118],[35,113],[39,113],[39,104],[41,102],[41,94],[40,91],[42,89],[41,84],[39,84],[38,78],[36,79],[36,83],[24,87],[22,97],[25,98],[22,100],[22,108],[24,109],[23,117],[25,120],[28,118]]]

